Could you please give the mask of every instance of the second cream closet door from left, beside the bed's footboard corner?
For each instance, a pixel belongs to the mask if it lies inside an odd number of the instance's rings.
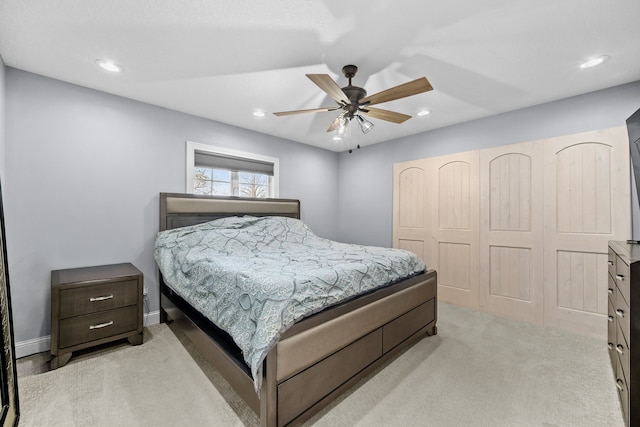
[[[477,309],[478,151],[428,160],[429,261],[438,271],[438,299]]]

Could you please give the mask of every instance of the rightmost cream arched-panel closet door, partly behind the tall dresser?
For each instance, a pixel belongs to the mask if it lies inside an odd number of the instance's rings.
[[[544,141],[545,324],[607,335],[607,241],[630,238],[626,128]]]

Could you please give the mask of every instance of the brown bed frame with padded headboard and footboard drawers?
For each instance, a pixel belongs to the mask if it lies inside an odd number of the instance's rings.
[[[235,215],[300,218],[300,202],[160,193],[160,230]],[[160,275],[160,320],[174,322],[263,426],[298,425],[358,380],[421,338],[437,333],[434,270],[309,316],[287,330],[267,355],[260,393],[230,337],[166,286]]]

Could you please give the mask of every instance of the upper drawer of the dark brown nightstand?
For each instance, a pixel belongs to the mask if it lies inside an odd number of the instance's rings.
[[[64,289],[60,291],[60,319],[134,305],[139,292],[137,280]]]

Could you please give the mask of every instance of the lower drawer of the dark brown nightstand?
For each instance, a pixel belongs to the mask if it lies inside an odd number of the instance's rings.
[[[133,305],[61,320],[60,348],[126,332],[135,332],[138,328],[137,313],[138,306]]]

